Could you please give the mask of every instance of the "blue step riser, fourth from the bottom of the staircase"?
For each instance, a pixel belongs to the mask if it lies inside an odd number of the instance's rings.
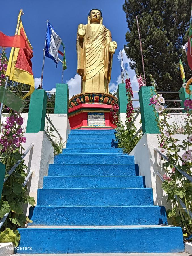
[[[144,176],[45,176],[43,188],[144,187]]]

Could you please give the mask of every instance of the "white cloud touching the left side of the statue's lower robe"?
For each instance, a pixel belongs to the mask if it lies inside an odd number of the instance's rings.
[[[73,97],[73,95],[81,93],[81,76],[78,74],[75,74],[74,77],[71,77],[71,79],[66,81],[66,84],[69,86],[69,95],[70,98]]]

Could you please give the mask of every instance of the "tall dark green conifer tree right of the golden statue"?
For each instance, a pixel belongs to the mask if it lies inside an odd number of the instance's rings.
[[[123,10],[128,24],[127,45],[124,48],[130,58],[131,69],[135,69],[138,74],[143,73],[137,15],[147,85],[151,85],[151,74],[157,82],[158,90],[178,91],[182,86],[180,57],[186,80],[192,75],[187,56],[181,48],[188,40],[191,1],[125,0]],[[176,98],[176,95],[173,97]]]

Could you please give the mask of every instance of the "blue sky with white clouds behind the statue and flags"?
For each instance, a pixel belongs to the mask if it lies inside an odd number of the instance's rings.
[[[20,9],[24,15],[22,22],[28,39],[33,46],[32,69],[35,78],[35,85],[39,84],[43,62],[43,48],[45,44],[46,21],[52,24],[61,37],[66,50],[67,69],[64,71],[63,82],[69,84],[69,94],[73,96],[81,92],[81,79],[76,74],[77,53],[76,36],[78,24],[87,24],[87,16],[92,8],[101,9],[103,15],[103,25],[112,33],[112,40],[117,42],[117,49],[113,56],[113,67],[109,90],[117,90],[117,85],[121,82],[120,62],[118,55],[126,44],[125,34],[127,23],[125,13],[122,10],[124,0],[97,0],[95,3],[88,0],[71,1],[45,1],[45,0],[9,0],[1,2],[0,30],[12,36],[15,33],[16,21]],[[4,10],[4,11],[3,11]],[[10,49],[7,49],[9,57]],[[125,68],[132,81],[134,90],[138,89],[135,73],[130,69],[125,52],[123,51]],[[54,61],[45,57],[43,74],[43,88],[54,90],[56,83],[61,83],[62,64],[55,67]]]

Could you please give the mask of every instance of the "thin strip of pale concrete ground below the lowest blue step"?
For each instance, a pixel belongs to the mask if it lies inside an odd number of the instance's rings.
[[[14,254],[16,256],[187,256],[188,253],[69,253],[69,254]],[[12,256],[14,256],[12,255]]]

